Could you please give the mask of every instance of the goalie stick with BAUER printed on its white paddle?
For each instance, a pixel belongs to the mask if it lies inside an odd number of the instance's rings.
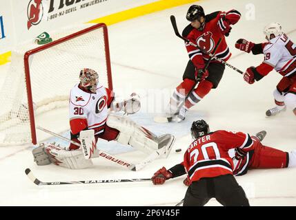
[[[41,131],[44,131],[46,133],[50,133],[51,135],[54,135],[56,137],[59,137],[61,138],[61,140],[66,140],[67,142],[70,142],[72,144],[75,144],[76,146],[81,146],[79,143],[77,142],[74,142],[70,139],[68,139],[67,137],[63,137],[62,135],[59,135],[57,133],[54,133],[52,131],[49,131],[48,129],[44,129],[42,128],[41,126],[36,126],[37,129],[41,130]],[[125,168],[128,168],[129,170],[132,170],[132,171],[138,171],[138,170],[141,170],[141,168],[144,168],[144,166],[146,166],[146,164],[152,162],[151,158],[150,157],[146,157],[142,162],[140,162],[139,164],[132,164],[130,162],[126,162],[124,161],[123,159],[119,159],[118,157],[115,157],[113,155],[110,155],[104,151],[101,151],[99,150],[99,156],[100,157],[103,157],[104,159],[108,159],[108,161],[110,162],[114,162],[115,164],[119,164],[121,166],[124,166]]]

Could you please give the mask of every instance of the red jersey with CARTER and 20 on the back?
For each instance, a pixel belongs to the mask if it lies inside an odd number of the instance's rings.
[[[246,133],[215,131],[204,135],[190,144],[184,154],[184,167],[190,181],[203,177],[233,174],[233,159],[230,148],[253,150],[253,140]]]

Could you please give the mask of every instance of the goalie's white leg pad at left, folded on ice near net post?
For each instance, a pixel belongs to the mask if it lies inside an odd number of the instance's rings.
[[[46,144],[46,153],[50,161],[56,165],[70,169],[81,169],[92,166],[91,159],[85,159],[80,149],[75,151],[66,151],[59,145]]]

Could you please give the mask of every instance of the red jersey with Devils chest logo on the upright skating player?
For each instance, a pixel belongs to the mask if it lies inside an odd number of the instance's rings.
[[[215,52],[215,56],[221,58],[224,61],[227,61],[230,56],[230,50],[226,44],[225,36],[221,34],[219,28],[219,19],[224,17],[226,21],[230,24],[235,24],[240,19],[240,13],[237,10],[230,10],[229,12],[213,12],[212,14],[206,15],[206,24],[204,30],[199,31],[193,26],[188,25],[182,35],[189,39],[191,42],[197,44],[202,50],[206,52],[212,52],[217,45],[219,38],[221,38],[221,43]],[[210,56],[203,54],[201,50],[197,49],[192,45],[186,43],[186,49],[188,56],[191,61],[193,61],[195,67],[198,69],[204,68],[204,61],[207,61]]]

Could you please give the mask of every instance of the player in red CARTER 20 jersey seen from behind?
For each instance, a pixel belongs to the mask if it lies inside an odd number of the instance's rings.
[[[184,154],[183,170],[176,171],[177,174],[186,171],[191,182],[184,206],[204,206],[213,197],[223,206],[249,206],[244,189],[233,177],[233,159],[228,150],[236,148],[240,155],[251,151],[254,142],[250,135],[228,131],[210,133],[204,120],[193,122],[191,135],[194,141]],[[164,173],[164,177],[168,177],[168,173]],[[154,184],[161,175],[161,170],[155,173]]]

